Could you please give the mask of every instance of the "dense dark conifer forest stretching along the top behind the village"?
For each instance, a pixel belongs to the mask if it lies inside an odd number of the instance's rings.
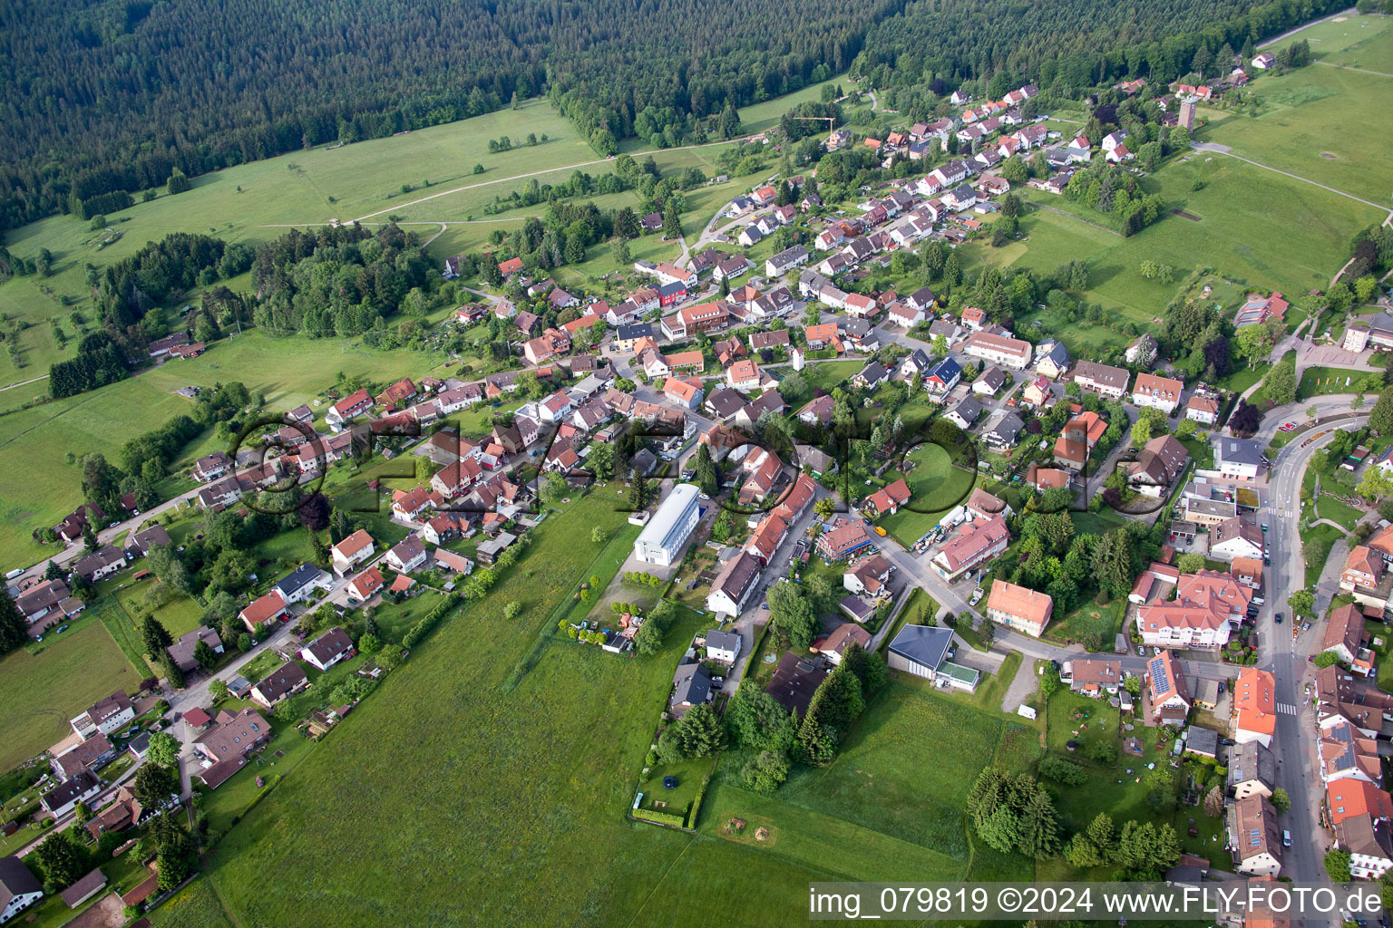
[[[940,89],[997,74],[1071,88],[1113,72],[1169,79],[1201,38],[1237,49],[1330,6],[15,0],[0,4],[0,230],[114,211],[171,177],[187,184],[180,173],[380,138],[539,93],[609,154],[632,135],[723,132],[736,125],[727,107],[854,61],[878,82]],[[1197,36],[1205,26],[1213,35]]]

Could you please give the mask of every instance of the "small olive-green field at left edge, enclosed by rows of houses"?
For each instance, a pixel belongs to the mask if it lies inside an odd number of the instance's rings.
[[[139,678],[100,622],[42,647],[0,659],[0,769],[33,757],[70,733],[68,719],[113,690],[134,691]]]

